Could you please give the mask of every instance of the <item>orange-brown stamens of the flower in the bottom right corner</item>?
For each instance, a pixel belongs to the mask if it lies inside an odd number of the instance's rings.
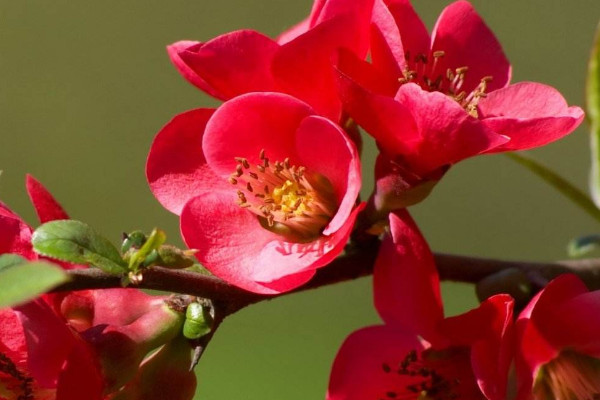
[[[600,360],[572,350],[544,365],[533,386],[535,400],[600,398]]]

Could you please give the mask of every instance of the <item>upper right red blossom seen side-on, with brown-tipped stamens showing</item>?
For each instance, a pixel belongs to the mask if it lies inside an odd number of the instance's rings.
[[[341,51],[339,86],[381,150],[382,195],[435,182],[471,156],[545,145],[583,119],[549,86],[509,85],[500,43],[466,1],[446,7],[430,36],[408,0],[376,0],[371,55]]]

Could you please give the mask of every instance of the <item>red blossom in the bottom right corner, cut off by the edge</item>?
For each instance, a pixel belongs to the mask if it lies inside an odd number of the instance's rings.
[[[518,400],[600,396],[600,291],[575,275],[550,282],[517,320]]]

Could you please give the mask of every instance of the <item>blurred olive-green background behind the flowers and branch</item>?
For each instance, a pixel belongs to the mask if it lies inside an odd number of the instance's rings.
[[[447,1],[415,1],[429,26]],[[582,105],[598,0],[474,1],[513,64]],[[217,103],[187,84],[165,45],[240,28],[275,36],[310,0],[0,1],[0,198],[34,223],[25,173],[73,218],[118,241],[154,226],[180,243],[177,218],[144,177],[155,133],[175,114]],[[534,152],[587,185],[587,127]],[[370,185],[371,145],[365,155]],[[368,187],[368,186],[367,186]],[[552,260],[598,230],[581,211],[503,156],[457,165],[414,215],[436,251]],[[447,312],[475,305],[473,288],[444,284]],[[319,399],[344,337],[378,322],[369,279],[252,306],[219,329],[198,367],[198,399]]]

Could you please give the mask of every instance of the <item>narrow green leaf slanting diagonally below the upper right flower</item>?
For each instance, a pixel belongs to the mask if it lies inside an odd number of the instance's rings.
[[[596,221],[600,222],[600,210],[594,202],[582,190],[574,186],[549,167],[523,153],[504,153],[511,160],[521,164],[531,172],[546,181],[547,184],[565,195],[573,203],[588,213]]]

